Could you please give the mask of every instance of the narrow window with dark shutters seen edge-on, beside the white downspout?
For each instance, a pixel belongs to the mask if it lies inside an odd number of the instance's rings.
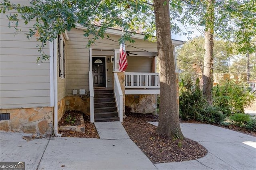
[[[66,77],[65,72],[65,42],[64,38],[59,35],[58,36],[58,52],[59,52],[59,77],[64,79]]]

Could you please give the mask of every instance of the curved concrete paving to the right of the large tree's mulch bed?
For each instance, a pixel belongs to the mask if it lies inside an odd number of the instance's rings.
[[[155,164],[159,170],[256,170],[256,137],[207,124],[180,125],[184,136],[202,144],[208,154],[198,160]]]

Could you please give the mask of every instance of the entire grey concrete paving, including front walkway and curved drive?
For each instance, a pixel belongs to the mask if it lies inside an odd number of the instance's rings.
[[[51,137],[26,141],[22,136],[28,134],[0,132],[0,161],[25,161],[26,169],[32,170],[256,169],[256,137],[225,128],[181,123],[184,136],[198,141],[208,154],[198,160],[154,165],[130,140],[121,123],[95,125],[100,139]]]

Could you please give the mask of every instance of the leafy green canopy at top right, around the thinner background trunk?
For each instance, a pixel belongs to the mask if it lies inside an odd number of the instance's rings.
[[[203,26],[213,15],[214,35],[226,42],[236,44],[238,53],[253,53],[256,45],[251,42],[256,35],[256,1],[255,0],[214,0],[214,13],[208,14],[208,1],[204,0],[171,0],[173,20],[185,27],[188,25]],[[188,32],[192,34],[192,32]]]

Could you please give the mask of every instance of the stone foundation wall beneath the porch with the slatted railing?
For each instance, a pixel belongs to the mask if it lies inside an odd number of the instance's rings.
[[[132,113],[156,113],[156,95],[125,95],[125,105]]]

